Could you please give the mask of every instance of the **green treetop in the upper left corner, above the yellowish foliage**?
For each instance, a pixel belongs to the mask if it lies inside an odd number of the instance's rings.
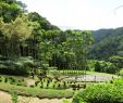
[[[24,12],[25,4],[16,0],[0,0],[0,17],[10,23]]]

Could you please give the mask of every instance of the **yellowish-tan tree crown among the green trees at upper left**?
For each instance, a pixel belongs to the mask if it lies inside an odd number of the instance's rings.
[[[9,39],[24,40],[27,39],[32,34],[32,29],[28,26],[28,24],[29,22],[26,16],[22,16],[22,17],[17,16],[14,22],[11,23],[1,22],[0,30]]]

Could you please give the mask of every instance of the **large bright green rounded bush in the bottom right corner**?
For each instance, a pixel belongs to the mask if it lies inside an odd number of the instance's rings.
[[[96,85],[79,91],[73,103],[123,103],[123,87],[115,85]]]

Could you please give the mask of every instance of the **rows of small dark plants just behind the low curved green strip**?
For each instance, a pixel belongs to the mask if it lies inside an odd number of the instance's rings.
[[[24,78],[14,77],[3,77],[0,76],[0,82],[15,85],[15,86],[26,86]],[[35,85],[30,85],[32,88],[40,89],[70,89],[79,90],[81,88],[86,88],[85,83],[74,82],[74,81],[57,81],[54,79],[44,78],[42,80],[35,81]]]

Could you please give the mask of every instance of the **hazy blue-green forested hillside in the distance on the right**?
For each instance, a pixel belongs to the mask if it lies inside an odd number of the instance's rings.
[[[123,27],[96,30],[93,36],[95,41],[90,47],[90,59],[108,60],[113,55],[123,55]]]

